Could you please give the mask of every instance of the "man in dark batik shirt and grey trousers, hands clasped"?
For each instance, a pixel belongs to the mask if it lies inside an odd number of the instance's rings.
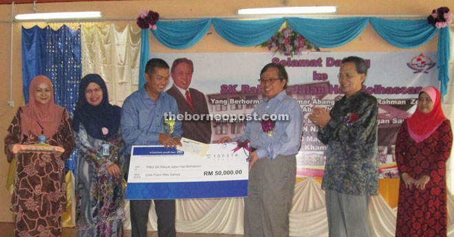
[[[345,95],[331,111],[314,107],[309,115],[328,145],[322,188],[329,237],[370,236],[369,195],[378,194],[378,104],[363,91],[366,75],[363,58],[344,58],[338,78]]]

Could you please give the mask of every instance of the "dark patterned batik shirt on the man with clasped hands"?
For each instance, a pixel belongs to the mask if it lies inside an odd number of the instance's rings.
[[[338,100],[318,139],[327,144],[322,188],[349,195],[378,194],[378,104],[360,90]]]

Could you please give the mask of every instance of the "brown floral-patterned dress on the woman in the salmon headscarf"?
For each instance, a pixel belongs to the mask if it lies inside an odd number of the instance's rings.
[[[12,144],[37,144],[33,133],[21,131],[20,107],[5,137],[5,153],[10,162]],[[65,149],[54,153],[19,153],[10,210],[16,212],[14,236],[61,236],[61,214],[66,210],[65,160],[74,150],[71,119],[64,110],[60,125],[47,144]]]

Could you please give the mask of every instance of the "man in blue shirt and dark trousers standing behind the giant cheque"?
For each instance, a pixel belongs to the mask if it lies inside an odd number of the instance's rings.
[[[129,95],[122,106],[121,132],[128,154],[133,145],[181,146],[181,121],[175,121],[173,129],[164,126],[164,113],[178,114],[177,102],[164,92],[169,83],[169,65],[160,58],[152,58],[145,67],[145,80],[144,87]],[[158,236],[175,237],[175,200],[154,203]],[[132,237],[146,237],[151,201],[131,200],[129,204]]]

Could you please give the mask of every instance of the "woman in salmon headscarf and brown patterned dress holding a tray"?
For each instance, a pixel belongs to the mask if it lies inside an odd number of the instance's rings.
[[[30,101],[19,107],[5,137],[8,161],[14,144],[32,145],[39,136],[60,146],[63,153],[18,153],[17,174],[10,210],[16,212],[15,236],[61,236],[61,214],[66,208],[65,159],[74,149],[67,111],[54,103],[49,78],[36,76],[30,83]]]

